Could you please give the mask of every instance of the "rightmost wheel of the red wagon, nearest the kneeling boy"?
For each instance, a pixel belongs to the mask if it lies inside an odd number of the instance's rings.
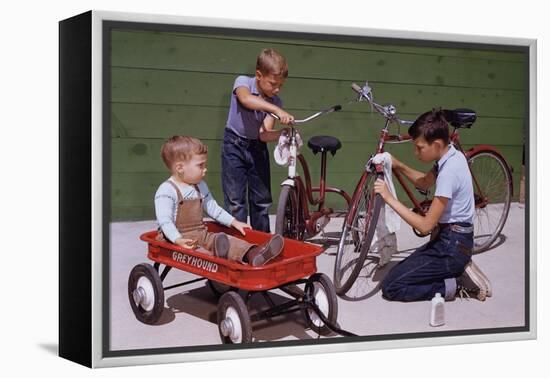
[[[323,273],[316,273],[309,278],[305,287],[306,297],[310,296],[311,300],[321,313],[332,324],[336,323],[338,318],[338,299],[336,297],[336,290],[332,281]],[[321,320],[317,313],[311,309],[306,308],[304,310],[306,322],[308,326],[319,335],[328,335],[331,333],[330,328]]]

